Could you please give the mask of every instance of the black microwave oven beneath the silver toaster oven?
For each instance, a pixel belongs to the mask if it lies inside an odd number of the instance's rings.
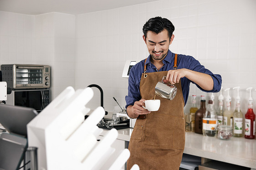
[[[7,95],[6,104],[34,108],[41,112],[50,103],[49,89],[15,90]]]

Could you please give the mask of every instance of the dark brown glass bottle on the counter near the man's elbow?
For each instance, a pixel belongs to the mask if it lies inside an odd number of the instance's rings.
[[[201,96],[200,108],[195,112],[195,133],[203,134],[203,117],[205,111],[205,96]]]

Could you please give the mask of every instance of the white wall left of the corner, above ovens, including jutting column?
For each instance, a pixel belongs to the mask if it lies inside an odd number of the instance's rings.
[[[54,98],[75,86],[75,27],[75,15],[0,11],[0,64],[50,65]]]

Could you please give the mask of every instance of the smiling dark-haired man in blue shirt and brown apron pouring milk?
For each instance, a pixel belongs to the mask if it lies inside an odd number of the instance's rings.
[[[140,170],[179,170],[189,84],[194,83],[204,92],[220,91],[220,75],[210,72],[192,56],[169,50],[173,32],[171,21],[161,17],[151,18],[143,26],[143,39],[150,55],[131,68],[125,97],[128,116],[137,118],[128,147],[128,170],[134,164]],[[164,76],[166,83],[177,87],[177,94],[173,100],[156,96],[161,101],[160,108],[149,112],[143,108],[143,101],[154,99],[154,87]]]

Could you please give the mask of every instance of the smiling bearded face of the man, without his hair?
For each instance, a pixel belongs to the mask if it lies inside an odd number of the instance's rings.
[[[171,39],[169,38],[168,31],[164,29],[159,34],[155,34],[152,31],[148,31],[147,38],[143,35],[143,39],[148,47],[148,52],[154,60],[162,60],[168,53],[169,45],[174,39],[172,35]]]

